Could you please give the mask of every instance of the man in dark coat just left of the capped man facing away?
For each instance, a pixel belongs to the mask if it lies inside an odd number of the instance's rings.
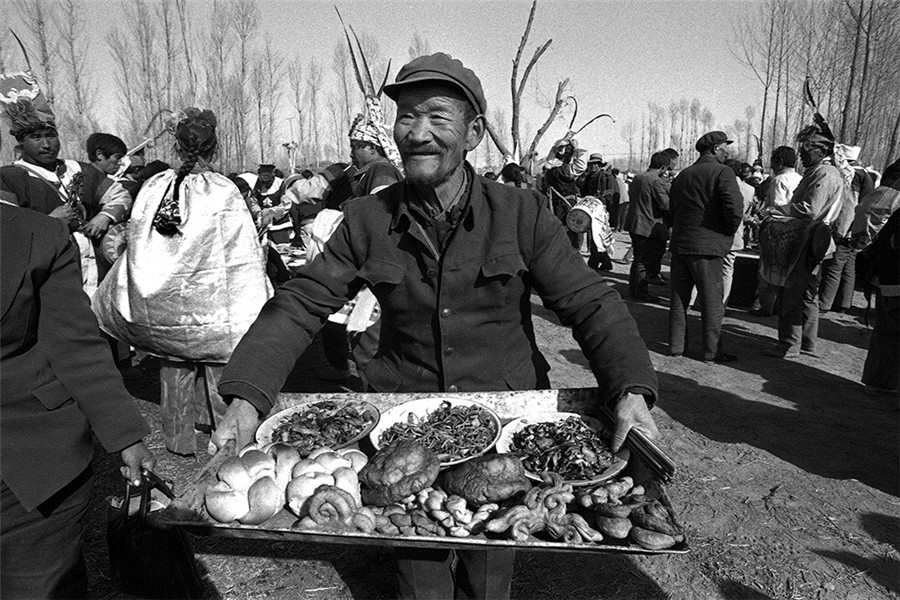
[[[662,257],[669,240],[669,185],[664,177],[669,168],[669,156],[655,152],[650,168],[638,173],[628,188],[628,218],[625,226],[631,236],[634,262],[628,275],[628,291],[635,300],[651,300],[648,281],[658,280]]]

